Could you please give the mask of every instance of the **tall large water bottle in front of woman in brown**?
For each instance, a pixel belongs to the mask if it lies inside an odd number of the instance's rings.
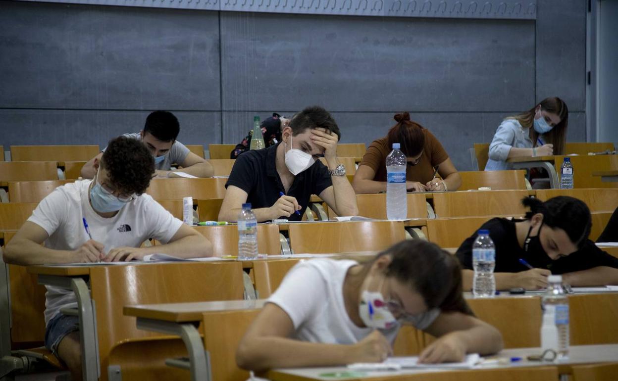
[[[399,143],[392,143],[392,151],[386,156],[386,218],[405,220],[408,216],[408,198],[405,194],[405,155],[399,151]]]

